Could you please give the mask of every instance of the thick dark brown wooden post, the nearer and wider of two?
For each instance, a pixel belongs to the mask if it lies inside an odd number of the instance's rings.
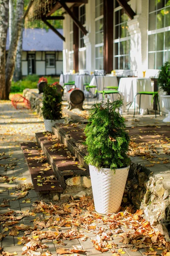
[[[104,0],[104,70],[113,70],[113,1]]]

